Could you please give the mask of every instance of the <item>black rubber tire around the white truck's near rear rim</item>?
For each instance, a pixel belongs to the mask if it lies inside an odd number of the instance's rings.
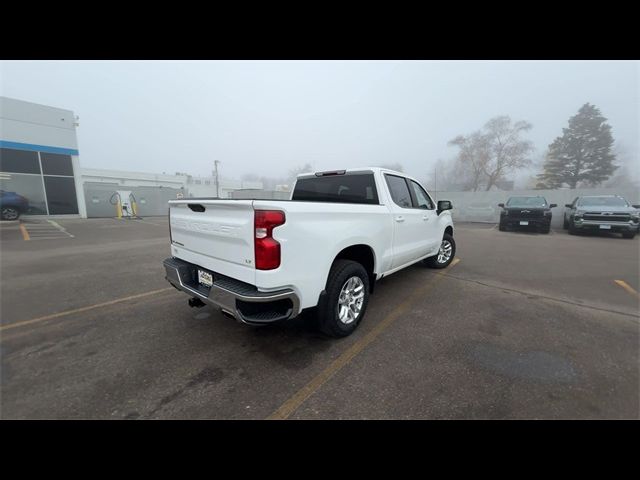
[[[364,285],[364,296],[360,312],[350,323],[340,320],[338,301],[343,287],[352,277],[358,277]],[[326,295],[320,301],[316,311],[316,322],[321,332],[331,337],[346,337],[351,335],[362,321],[369,303],[369,275],[358,262],[351,260],[336,260],[329,272]]]

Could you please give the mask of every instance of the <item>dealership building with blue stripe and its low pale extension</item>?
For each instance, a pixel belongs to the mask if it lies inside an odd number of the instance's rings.
[[[111,217],[114,198],[127,195],[138,214],[166,215],[174,198],[230,198],[261,182],[187,173],[81,168],[71,110],[0,97],[0,206],[26,216]]]

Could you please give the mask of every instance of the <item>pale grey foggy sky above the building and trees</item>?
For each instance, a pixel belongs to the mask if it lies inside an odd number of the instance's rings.
[[[80,164],[223,178],[400,163],[424,178],[495,115],[540,156],[586,102],[638,158],[640,62],[3,61],[0,95],[80,116]]]

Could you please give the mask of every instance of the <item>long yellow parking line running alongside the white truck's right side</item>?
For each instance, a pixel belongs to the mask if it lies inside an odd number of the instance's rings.
[[[453,267],[458,262],[459,258],[455,258],[449,267]],[[336,360],[320,372],[316,377],[307,383],[304,387],[298,390],[293,396],[285,401],[280,408],[267,417],[267,420],[286,420],[289,418],[307,398],[313,395],[318,389],[327,383],[327,381],[333,377],[338,371],[340,371],[345,365],[347,365],[353,358],[364,350],[367,345],[373,342],[380,334],[385,331],[395,320],[397,320],[403,313],[405,313],[409,307],[436,282],[437,279],[442,278],[443,275],[435,274],[427,285],[422,288],[416,289],[409,298],[394,308],[378,325],[375,326],[368,334],[358,340],[351,346],[346,352],[340,355]]]

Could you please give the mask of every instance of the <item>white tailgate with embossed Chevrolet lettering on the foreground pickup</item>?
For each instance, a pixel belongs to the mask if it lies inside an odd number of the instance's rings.
[[[252,200],[169,202],[171,254],[255,284]]]

